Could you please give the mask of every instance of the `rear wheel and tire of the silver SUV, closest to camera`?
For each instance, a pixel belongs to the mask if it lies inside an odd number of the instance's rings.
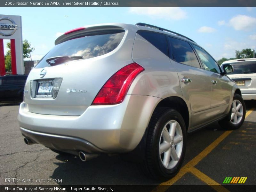
[[[167,180],[179,172],[185,156],[186,132],[178,111],[159,108],[154,112],[148,126],[146,156],[140,163],[146,176]]]

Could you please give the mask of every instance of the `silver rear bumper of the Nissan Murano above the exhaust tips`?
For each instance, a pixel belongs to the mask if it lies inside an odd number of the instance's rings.
[[[50,148],[122,153],[139,144],[160,100],[126,95],[120,104],[90,106],[81,116],[31,113],[22,102],[18,121],[23,135]]]

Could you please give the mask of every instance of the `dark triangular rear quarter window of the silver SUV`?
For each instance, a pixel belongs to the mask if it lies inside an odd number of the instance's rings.
[[[138,31],[138,34],[168,56],[168,46],[165,35],[150,31]]]

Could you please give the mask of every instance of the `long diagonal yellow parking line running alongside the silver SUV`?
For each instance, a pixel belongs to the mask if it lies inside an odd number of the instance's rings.
[[[245,118],[249,116],[254,108],[247,111]],[[196,164],[198,164],[205,156],[207,156],[219,143],[224,140],[232,131],[225,131],[218,137],[215,141],[213,141],[207,148],[205,148],[201,153],[199,153],[196,157],[194,157],[191,161],[189,161],[186,165],[184,165],[180,171],[177,173],[175,177],[172,179],[165,181],[163,183],[160,183],[159,187],[157,186],[155,189],[153,189],[152,192],[164,192],[166,189],[169,188],[168,185],[174,184],[177,180],[179,180],[183,175],[185,175],[187,172],[190,171],[191,168],[193,168]]]

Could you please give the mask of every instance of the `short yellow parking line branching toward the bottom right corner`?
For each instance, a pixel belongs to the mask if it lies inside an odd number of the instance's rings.
[[[216,181],[212,180],[210,177],[196,169],[195,167],[190,168],[190,172],[193,173],[196,177],[198,177],[200,180],[204,181],[207,185],[210,185],[212,188],[214,188],[216,191],[221,192],[229,192],[228,189],[221,186]]]

